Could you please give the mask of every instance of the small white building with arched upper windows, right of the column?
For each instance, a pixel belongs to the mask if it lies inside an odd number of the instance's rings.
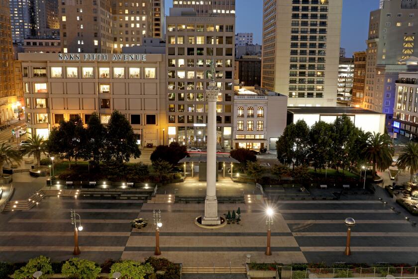
[[[234,148],[276,150],[286,128],[287,96],[268,90],[242,87],[234,95]]]

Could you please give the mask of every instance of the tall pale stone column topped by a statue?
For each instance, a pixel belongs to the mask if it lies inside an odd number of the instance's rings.
[[[206,170],[206,199],[205,215],[202,218],[202,225],[219,225],[220,218],[217,214],[216,199],[216,100],[219,89],[215,82],[215,67],[212,58],[212,80],[206,90],[206,100],[208,101],[208,152]]]

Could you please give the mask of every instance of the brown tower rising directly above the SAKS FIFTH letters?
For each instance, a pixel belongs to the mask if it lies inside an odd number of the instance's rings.
[[[60,0],[60,36],[64,53],[112,53],[110,0]]]

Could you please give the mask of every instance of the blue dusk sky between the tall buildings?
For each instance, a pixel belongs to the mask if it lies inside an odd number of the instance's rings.
[[[257,3],[257,4],[255,4]],[[261,26],[263,18],[262,0],[236,0],[236,31],[253,32],[254,43],[261,44]],[[173,6],[172,0],[166,0],[166,14]],[[341,47],[350,57],[354,51],[366,49],[369,13],[379,8],[379,0],[344,0],[342,8]]]

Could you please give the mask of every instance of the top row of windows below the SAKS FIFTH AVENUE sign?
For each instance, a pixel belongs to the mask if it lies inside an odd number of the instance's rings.
[[[98,78],[125,78],[125,72],[129,78],[141,78],[141,70],[143,69],[143,78],[155,79],[156,68],[128,68],[127,71],[122,67],[111,68],[113,75],[110,73],[109,67],[100,67],[97,71]],[[51,78],[63,78],[64,73],[67,78],[95,78],[96,68],[94,67],[82,67],[81,76],[79,75],[79,67],[50,67]],[[47,67],[33,67],[32,77],[48,77]],[[23,67],[23,77],[28,77],[28,68]]]

